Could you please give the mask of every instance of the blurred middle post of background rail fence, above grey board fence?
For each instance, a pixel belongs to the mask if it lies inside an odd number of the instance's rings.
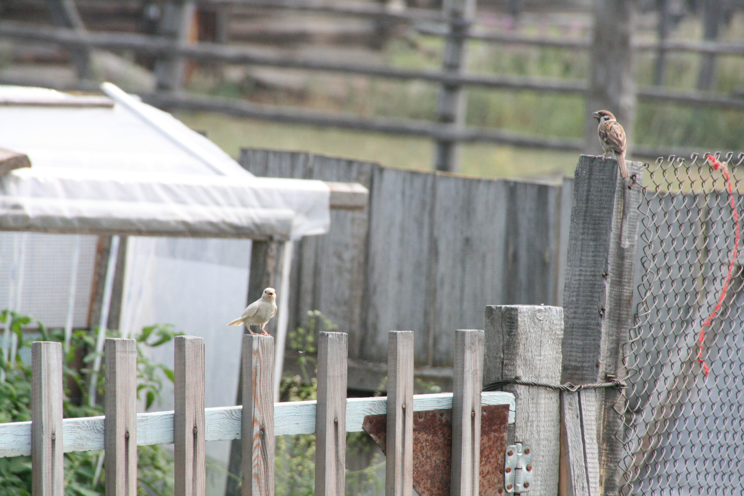
[[[449,33],[442,52],[442,68],[446,74],[458,76],[465,65],[465,45],[470,22],[475,16],[475,0],[445,0],[443,13],[449,19]],[[443,84],[437,98],[437,118],[440,123],[464,126],[466,94],[459,84]],[[434,147],[436,170],[457,170],[457,141],[440,139]]]

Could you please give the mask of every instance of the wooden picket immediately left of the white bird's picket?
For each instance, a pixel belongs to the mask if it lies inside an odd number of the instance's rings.
[[[204,496],[204,339],[176,336],[173,364],[173,493],[175,496]]]

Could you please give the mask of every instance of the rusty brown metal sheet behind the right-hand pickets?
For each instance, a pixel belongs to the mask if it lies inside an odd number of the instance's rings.
[[[481,496],[504,495],[504,451],[509,405],[481,408]],[[368,415],[362,428],[385,453],[387,416]],[[449,496],[452,410],[414,412],[414,489],[420,496]]]

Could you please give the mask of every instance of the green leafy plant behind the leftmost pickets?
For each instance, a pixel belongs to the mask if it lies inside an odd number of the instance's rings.
[[[47,329],[46,326],[15,312],[3,311],[0,322],[10,318],[10,332],[14,336],[15,352],[6,360],[0,355],[0,422],[23,422],[31,420],[31,364],[23,361],[24,351],[31,347],[24,329],[38,329],[42,341],[64,342],[62,329]],[[97,353],[97,332],[76,330],[72,333],[70,347],[65,353],[63,374],[65,396],[62,405],[65,418],[103,415],[103,407],[89,405],[86,384],[89,368]],[[138,399],[144,399],[147,408],[159,399],[163,387],[162,376],[173,381],[173,370],[156,364],[143,353],[144,348],[158,347],[171,341],[179,333],[172,326],[158,324],[145,327],[136,337]],[[107,337],[118,337],[108,332]],[[36,341],[36,340],[34,340]],[[99,375],[96,387],[98,398],[103,398],[105,376]],[[139,446],[138,492],[140,495],[173,494],[173,460],[161,446]],[[99,496],[105,492],[105,470],[103,451],[74,451],[65,453],[65,496]],[[0,496],[31,495],[31,457],[0,458]]]

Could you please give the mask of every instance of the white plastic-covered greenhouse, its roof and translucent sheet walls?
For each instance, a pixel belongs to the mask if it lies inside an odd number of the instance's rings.
[[[207,405],[231,405],[243,330],[225,324],[246,305],[250,239],[324,233],[329,189],[321,181],[254,177],[169,114],[113,85],[102,89],[107,97],[0,86],[0,148],[31,159],[30,168],[0,175],[0,309],[64,326],[66,335],[98,326],[100,337],[109,323],[129,336],[172,323],[205,338]],[[121,307],[110,320],[120,238],[112,238],[99,281],[100,319],[91,321],[98,238],[88,234],[129,235]],[[278,292],[284,334],[291,246]],[[12,342],[6,326],[5,350]],[[171,348],[151,352],[173,360]],[[229,446],[217,444],[210,456],[226,463]]]

